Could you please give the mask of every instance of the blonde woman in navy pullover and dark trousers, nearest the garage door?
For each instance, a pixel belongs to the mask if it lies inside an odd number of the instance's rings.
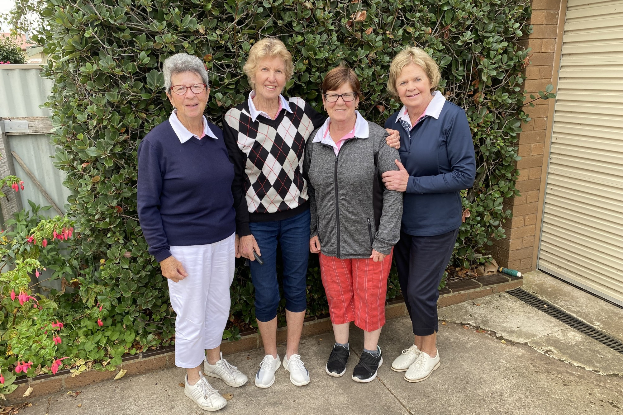
[[[465,111],[435,90],[439,67],[424,50],[407,47],[392,60],[388,90],[404,105],[386,127],[401,135],[398,171],[383,173],[386,188],[404,194],[396,244],[398,278],[415,335],[392,363],[409,382],[439,367],[437,287],[461,224],[460,191],[473,186],[475,157]]]

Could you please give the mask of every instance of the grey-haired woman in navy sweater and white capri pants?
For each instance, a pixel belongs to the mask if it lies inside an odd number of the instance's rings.
[[[234,279],[234,167],[222,131],[203,112],[210,88],[201,60],[164,61],[173,113],[138,147],[138,217],[150,254],[168,279],[175,310],[175,365],[186,369],[184,393],[216,411],[227,401],[201,373],[242,386],[247,376],[222,358]],[[207,352],[207,356],[206,356]]]

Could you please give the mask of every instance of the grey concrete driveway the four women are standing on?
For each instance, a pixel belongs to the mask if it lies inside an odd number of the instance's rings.
[[[531,287],[527,281],[526,287]],[[595,353],[596,348],[594,345],[587,347],[584,335],[573,336],[573,329],[559,327],[556,320],[544,313],[538,310],[535,310],[538,314],[530,313],[525,308],[530,306],[510,295],[491,295],[478,301],[480,306],[470,302],[471,308],[457,305],[442,308],[440,313],[448,320],[452,316],[461,320],[457,314],[467,313],[468,317],[463,319],[465,322],[497,328],[500,330],[498,335],[503,333],[507,339],[506,344],[492,332],[464,328],[462,324],[451,322],[440,325],[442,365],[424,382],[408,383],[401,373],[390,368],[391,361],[412,340],[411,322],[408,318],[399,318],[389,321],[383,330],[384,364],[373,382],[359,384],[347,376],[358,361],[356,355],[351,355],[348,370],[342,378],[331,378],[325,373],[326,358],[333,345],[333,335],[326,333],[302,341],[300,352],[312,376],[308,386],[297,388],[290,384],[283,368],[277,371],[275,384],[269,389],[256,388],[252,379],[241,388],[230,388],[214,379],[212,386],[221,393],[234,395],[219,414],[623,413],[623,376],[615,374],[618,369],[611,369],[623,366],[623,355],[606,356],[606,351],[600,351],[604,353],[600,365],[589,362],[599,367],[602,373],[611,372],[609,376],[552,358],[552,354],[571,355],[571,351],[576,355]],[[579,303],[573,302],[575,305]],[[480,313],[479,310],[485,309],[487,313]],[[608,315],[607,307],[602,311]],[[616,311],[610,310],[609,315],[612,317]],[[560,333],[568,334],[561,338]],[[515,337],[518,343],[511,341],[511,337]],[[538,339],[543,345],[537,344]],[[359,355],[363,348],[361,330],[351,330],[351,346]],[[546,348],[554,351],[545,353]],[[280,346],[279,352],[284,351],[285,348]],[[262,353],[255,350],[227,356],[227,360],[252,378],[262,357]],[[84,388],[76,398],[59,394],[39,399],[20,414],[205,414],[184,396],[183,389],[178,386],[183,376],[183,370],[173,368],[103,382]]]

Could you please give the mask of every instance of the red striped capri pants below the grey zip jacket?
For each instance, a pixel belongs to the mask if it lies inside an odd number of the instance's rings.
[[[381,262],[318,254],[331,323],[354,322],[366,332],[383,327],[392,254],[393,250]]]

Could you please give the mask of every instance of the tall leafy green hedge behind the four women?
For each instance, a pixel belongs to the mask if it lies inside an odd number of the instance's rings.
[[[482,261],[478,255],[504,236],[510,212],[502,201],[518,194],[516,134],[528,119],[521,112],[527,51],[519,45],[531,30],[528,0],[48,0],[42,16],[49,30],[36,40],[54,57],[45,75],[55,81],[48,104],[55,163],[67,174],[67,209],[79,232],[67,260],[80,265],[58,273],[75,291],[51,293],[59,320],[72,322],[57,356],[78,365],[107,358],[115,364],[123,351],[167,344],[173,336],[166,280],[136,217],[136,149],[171,112],[159,71],[178,52],[206,62],[207,115],[216,123],[247,96],[242,64],[266,35],[280,37],[293,54],[286,95],[321,110],[322,76],[345,62],[364,86],[364,117],[383,123],[401,105],[386,92],[389,63],[404,45],[421,45],[442,68],[444,93],[466,108],[477,148],[477,183],[463,202],[472,216],[460,229],[455,262]],[[397,294],[395,283],[394,272],[389,298]],[[309,314],[325,313],[313,258],[308,287]],[[239,266],[225,338],[254,322],[252,298]]]

